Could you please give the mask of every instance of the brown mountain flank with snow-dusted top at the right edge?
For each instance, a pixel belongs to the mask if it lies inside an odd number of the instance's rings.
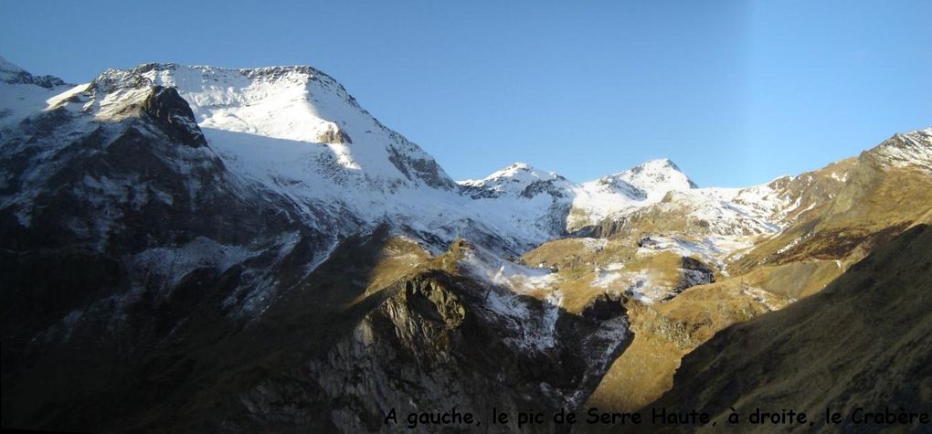
[[[748,251],[735,268],[802,259],[859,261],[928,210],[930,147],[932,129],[897,134],[855,159],[803,174],[806,184],[790,183],[784,194],[810,204],[780,234]]]

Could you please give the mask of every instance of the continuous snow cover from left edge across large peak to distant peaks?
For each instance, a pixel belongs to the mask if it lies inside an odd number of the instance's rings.
[[[760,234],[778,230],[774,216],[792,205],[757,200],[776,197],[771,184],[700,189],[668,159],[588,183],[522,163],[455,183],[417,144],[383,126],[336,80],[308,66],[148,63],[108,70],[76,87],[34,77],[7,61],[0,68],[0,85],[14,97],[0,107],[4,125],[59,107],[118,122],[127,115],[125,107],[143,102],[151,88],[175,88],[226,170],[287,197],[308,221],[325,213],[369,227],[389,222],[436,249],[470,237],[496,251],[520,252],[588,226],[622,221],[665,200],[697,222],[707,220],[716,234]],[[348,231],[358,227],[351,224]]]

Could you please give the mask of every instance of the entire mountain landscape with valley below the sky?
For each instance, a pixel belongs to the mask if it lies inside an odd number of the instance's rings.
[[[0,59],[3,427],[932,413],[928,224],[932,129],[747,188],[666,159],[458,182],[308,66],[73,85]],[[451,408],[480,425],[405,421]]]

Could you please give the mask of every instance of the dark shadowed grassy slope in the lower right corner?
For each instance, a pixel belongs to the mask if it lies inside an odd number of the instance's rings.
[[[729,406],[932,413],[932,228],[915,225],[824,291],[718,333],[682,360],[673,389],[651,404],[719,420]],[[726,428],[761,431],[747,424],[709,427]]]

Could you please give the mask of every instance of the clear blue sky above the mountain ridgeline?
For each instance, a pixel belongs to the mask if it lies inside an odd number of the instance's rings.
[[[310,64],[454,178],[669,157],[766,182],[932,126],[932,2],[0,2],[0,54],[86,82],[146,61]]]

